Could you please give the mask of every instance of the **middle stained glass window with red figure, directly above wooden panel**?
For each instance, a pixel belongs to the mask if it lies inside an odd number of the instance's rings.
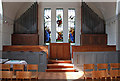
[[[56,9],[56,42],[63,42],[63,9]]]

